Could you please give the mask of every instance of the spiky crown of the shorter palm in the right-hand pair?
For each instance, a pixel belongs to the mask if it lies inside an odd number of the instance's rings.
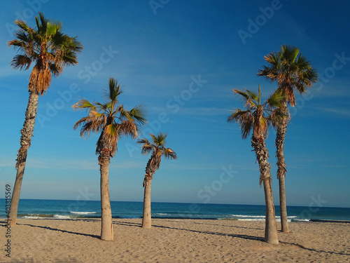
[[[281,92],[276,92],[261,104],[260,85],[258,94],[247,89],[246,91],[233,89],[233,91],[241,96],[246,110],[236,109],[228,116],[228,122],[239,123],[243,139],[246,139],[253,130],[252,138],[265,140],[268,126],[277,126],[284,117],[279,109],[285,97],[281,95]]]

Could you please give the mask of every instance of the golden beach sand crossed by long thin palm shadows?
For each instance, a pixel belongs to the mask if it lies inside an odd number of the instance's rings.
[[[99,239],[100,220],[0,221],[0,262],[350,262],[350,224],[291,222],[279,245],[263,241],[265,222],[236,220],[113,220],[114,241]],[[278,224],[280,228],[280,225]]]

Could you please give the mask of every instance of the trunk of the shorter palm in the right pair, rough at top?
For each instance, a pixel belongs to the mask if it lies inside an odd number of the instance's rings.
[[[252,138],[251,146],[254,148],[256,159],[259,163],[260,184],[262,182],[264,185],[266,207],[265,241],[270,244],[278,244],[279,236],[277,234],[276,215],[274,212],[274,198],[272,196],[271,188],[271,168],[269,162],[267,161],[269,159],[269,153],[265,147],[265,141],[262,138]]]

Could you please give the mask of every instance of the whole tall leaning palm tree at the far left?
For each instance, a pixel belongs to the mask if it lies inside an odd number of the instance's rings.
[[[15,25],[18,25],[20,29],[15,33],[16,39],[8,42],[8,46],[18,48],[18,52],[20,52],[20,54],[15,55],[11,62],[13,68],[27,70],[31,63],[34,63],[29,78],[29,101],[25,113],[25,123],[21,130],[20,149],[15,166],[17,175],[8,219],[11,226],[16,224],[27,152],[34,133],[38,97],[50,87],[52,74],[59,76],[65,66],[78,64],[76,54],[83,50],[83,46],[76,37],[62,33],[61,23],[44,18],[42,13],[39,13],[39,18],[36,17],[35,20],[36,29],[28,27],[22,20],[15,20]]]

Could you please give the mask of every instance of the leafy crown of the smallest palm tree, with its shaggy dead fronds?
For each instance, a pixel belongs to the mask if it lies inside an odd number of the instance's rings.
[[[150,135],[153,139],[153,143],[149,142],[146,138],[137,141],[137,143],[142,144],[142,154],[150,154],[152,151],[151,159],[149,159],[146,166],[144,187],[146,186],[148,180],[152,180],[155,171],[160,168],[160,160],[162,156],[167,159],[177,158],[176,153],[172,149],[165,147],[165,138],[167,137],[167,134],[160,133],[159,135],[155,136],[150,133]]]

